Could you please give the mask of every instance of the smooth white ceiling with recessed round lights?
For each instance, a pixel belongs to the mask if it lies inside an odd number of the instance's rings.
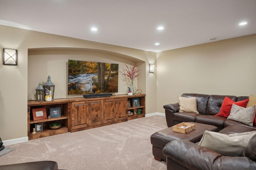
[[[157,52],[255,34],[256,0],[0,0],[0,25]]]

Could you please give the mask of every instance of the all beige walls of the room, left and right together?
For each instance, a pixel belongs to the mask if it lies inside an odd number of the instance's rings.
[[[48,75],[56,85],[55,98],[67,97],[63,82],[70,57],[116,61],[120,68],[123,63],[138,62],[137,87],[146,94],[146,113],[164,113],[163,105],[176,103],[182,93],[256,95],[255,34],[159,53],[3,25],[0,37],[1,51],[18,49],[18,66],[0,64],[0,137],[4,141],[27,137],[27,100],[33,99],[33,89]],[[0,57],[2,61],[2,52]],[[156,64],[154,74],[148,71],[149,63]],[[60,64],[58,69],[53,68],[55,64]],[[38,76],[32,73],[35,70]],[[120,84],[118,93],[124,91]]]

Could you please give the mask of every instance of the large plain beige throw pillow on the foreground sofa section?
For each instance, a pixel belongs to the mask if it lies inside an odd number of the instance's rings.
[[[242,156],[249,140],[256,131],[222,134],[218,132],[205,131],[198,145],[214,150],[224,156]]]

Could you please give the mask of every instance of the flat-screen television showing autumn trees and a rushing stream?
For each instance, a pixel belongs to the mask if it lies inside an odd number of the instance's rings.
[[[118,92],[118,64],[68,60],[68,95]]]

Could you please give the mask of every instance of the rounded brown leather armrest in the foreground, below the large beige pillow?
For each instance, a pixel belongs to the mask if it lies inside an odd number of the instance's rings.
[[[169,142],[164,147],[163,154],[190,170],[241,170],[248,169],[249,167],[249,169],[256,168],[256,162],[246,156],[222,156],[206,147],[201,147],[181,139]]]

